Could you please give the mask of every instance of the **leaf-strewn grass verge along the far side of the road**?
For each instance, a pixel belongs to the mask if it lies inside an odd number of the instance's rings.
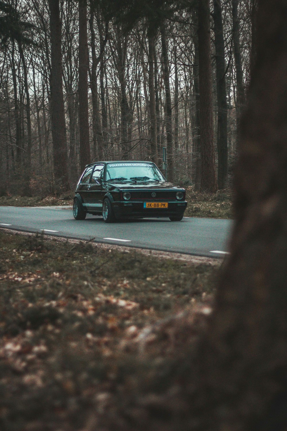
[[[188,202],[185,216],[187,217],[213,217],[217,219],[232,219],[233,193],[230,189],[218,191],[214,194],[194,192],[192,187],[186,187],[186,200]],[[45,198],[39,196],[1,196],[0,206],[62,206],[73,205],[73,194]]]

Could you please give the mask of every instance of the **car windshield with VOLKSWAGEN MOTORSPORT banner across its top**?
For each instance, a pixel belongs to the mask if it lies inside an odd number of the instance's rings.
[[[164,181],[160,170],[153,163],[108,163],[107,181]]]

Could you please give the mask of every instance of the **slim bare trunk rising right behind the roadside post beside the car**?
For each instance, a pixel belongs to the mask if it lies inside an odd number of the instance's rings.
[[[164,61],[164,88],[165,88],[165,128],[167,132],[167,175],[168,180],[173,182],[174,167],[173,167],[173,116],[170,97],[170,70],[167,50],[167,35],[165,25],[160,28],[161,34],[161,49]]]

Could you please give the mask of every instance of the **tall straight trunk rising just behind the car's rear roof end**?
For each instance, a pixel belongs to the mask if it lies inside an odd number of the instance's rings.
[[[79,136],[80,168],[83,171],[91,161],[89,146],[89,105],[88,105],[88,38],[87,38],[87,3],[79,1]]]

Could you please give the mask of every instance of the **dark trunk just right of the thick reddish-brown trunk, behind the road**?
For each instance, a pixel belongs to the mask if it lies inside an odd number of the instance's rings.
[[[227,148],[227,100],[225,85],[225,55],[220,0],[213,0],[214,45],[216,56],[216,93],[217,93],[217,152],[218,188],[224,189],[228,175]]]

